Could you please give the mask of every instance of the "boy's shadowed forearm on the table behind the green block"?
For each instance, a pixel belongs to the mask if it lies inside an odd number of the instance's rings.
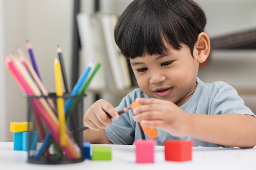
[[[83,131],[83,141],[90,141],[91,144],[112,144],[106,135],[105,129],[98,131],[87,129]]]

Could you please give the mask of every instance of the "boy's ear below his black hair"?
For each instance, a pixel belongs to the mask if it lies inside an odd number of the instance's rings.
[[[203,63],[209,56],[211,50],[210,39],[207,33],[199,33],[198,40],[195,42],[193,56],[197,58],[198,63]]]

